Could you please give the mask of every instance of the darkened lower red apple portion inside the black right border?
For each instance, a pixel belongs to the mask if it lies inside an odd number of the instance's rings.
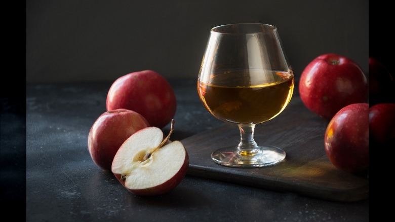
[[[395,147],[395,103],[370,106],[369,137],[375,146]]]

